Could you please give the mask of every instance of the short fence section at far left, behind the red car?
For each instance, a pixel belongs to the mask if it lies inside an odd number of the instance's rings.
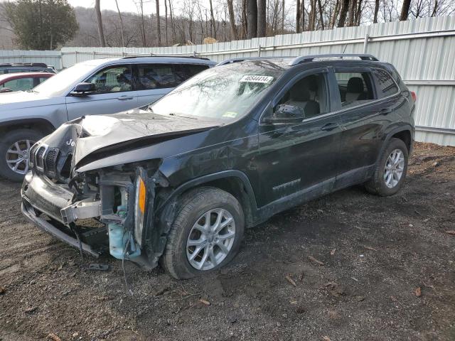
[[[60,51],[0,50],[0,63],[46,63],[62,68]]]

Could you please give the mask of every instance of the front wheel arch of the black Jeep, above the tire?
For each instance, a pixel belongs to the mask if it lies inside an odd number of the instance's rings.
[[[233,195],[237,200],[239,200],[240,205],[242,205],[245,214],[246,226],[251,227],[255,224],[255,217],[257,215],[255,193],[247,175],[245,175],[242,171],[237,170],[222,171],[189,180],[173,190],[173,192],[166,197],[164,202],[159,205],[157,210],[160,211],[169,202],[176,200],[184,193],[187,193],[188,190],[193,190],[194,188],[203,186],[219,188],[220,190],[225,190],[225,192]]]

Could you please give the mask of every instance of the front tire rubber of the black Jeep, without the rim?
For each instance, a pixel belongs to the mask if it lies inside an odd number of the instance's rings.
[[[193,225],[205,212],[215,208],[227,210],[232,215],[235,222],[234,242],[227,256],[225,256],[223,261],[220,261],[220,264],[210,270],[198,270],[188,261],[186,243]],[[242,207],[240,202],[230,193],[210,187],[191,190],[184,194],[178,202],[176,216],[168,234],[166,249],[160,259],[161,266],[176,279],[193,278],[194,276],[220,269],[237,254],[244,232],[245,217]]]

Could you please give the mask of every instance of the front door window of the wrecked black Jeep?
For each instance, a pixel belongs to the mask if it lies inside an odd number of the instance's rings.
[[[326,82],[323,73],[308,75],[296,81],[278,104],[299,107],[305,118],[316,117],[328,112]]]

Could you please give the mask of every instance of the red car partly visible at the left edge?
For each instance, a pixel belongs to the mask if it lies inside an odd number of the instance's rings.
[[[33,89],[53,75],[48,72],[17,72],[0,75],[0,93]]]

